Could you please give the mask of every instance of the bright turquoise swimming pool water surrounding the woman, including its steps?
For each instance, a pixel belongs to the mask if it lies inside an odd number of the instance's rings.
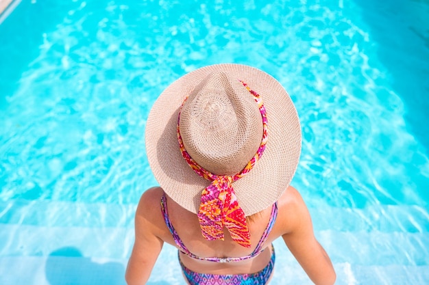
[[[32,2],[0,25],[0,284],[124,284],[147,113],[219,62],[291,94],[337,284],[429,284],[427,2]],[[272,284],[310,284],[276,249]],[[149,284],[183,284],[173,247]]]

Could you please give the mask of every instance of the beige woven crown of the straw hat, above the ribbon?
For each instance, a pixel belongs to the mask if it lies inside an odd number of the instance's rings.
[[[262,118],[238,79],[215,72],[189,94],[180,113],[180,135],[201,167],[217,175],[234,175],[260,146]]]

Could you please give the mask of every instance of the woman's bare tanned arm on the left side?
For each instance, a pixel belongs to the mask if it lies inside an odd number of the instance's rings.
[[[157,188],[149,189],[143,193],[138,202],[135,219],[136,239],[125,273],[128,285],[146,284],[161,252],[164,242],[156,234],[158,218],[156,215],[160,215],[159,192]],[[156,205],[158,211],[154,211]]]

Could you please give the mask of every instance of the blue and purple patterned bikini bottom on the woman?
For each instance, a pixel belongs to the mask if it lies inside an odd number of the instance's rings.
[[[256,273],[250,274],[235,274],[235,275],[218,275],[218,274],[207,274],[197,273],[187,269],[179,258],[180,266],[186,277],[186,280],[191,285],[206,284],[206,285],[250,285],[250,284],[267,284],[274,269],[275,252],[274,247],[273,254],[269,260],[267,266]]]

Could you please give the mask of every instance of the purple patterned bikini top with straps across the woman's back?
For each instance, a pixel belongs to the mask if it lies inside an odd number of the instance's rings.
[[[183,252],[184,254],[186,254],[187,256],[190,256],[191,258],[195,258],[198,260],[212,261],[212,262],[237,262],[237,261],[242,261],[242,260],[247,260],[249,258],[253,258],[253,257],[257,256],[258,254],[260,254],[264,250],[264,249],[262,249],[262,245],[264,245],[265,241],[267,240],[269,233],[271,232],[271,229],[274,226],[275,219],[277,218],[277,212],[278,212],[277,202],[275,202],[273,204],[273,208],[271,210],[271,216],[269,217],[267,228],[265,228],[265,231],[262,233],[262,236],[258,242],[258,245],[256,245],[252,254],[249,254],[248,256],[240,256],[240,257],[219,258],[219,257],[196,256],[195,254],[193,254],[192,252],[190,252],[188,250],[188,248],[184,245],[184,243],[180,239],[179,235],[177,234],[175,228],[173,227],[173,224],[170,221],[169,213],[167,211],[167,199],[165,197],[165,193],[162,194],[162,198],[161,198],[161,210],[162,210],[162,215],[164,216],[164,221],[167,225],[167,228],[169,228],[176,245],[179,247],[180,252]]]

